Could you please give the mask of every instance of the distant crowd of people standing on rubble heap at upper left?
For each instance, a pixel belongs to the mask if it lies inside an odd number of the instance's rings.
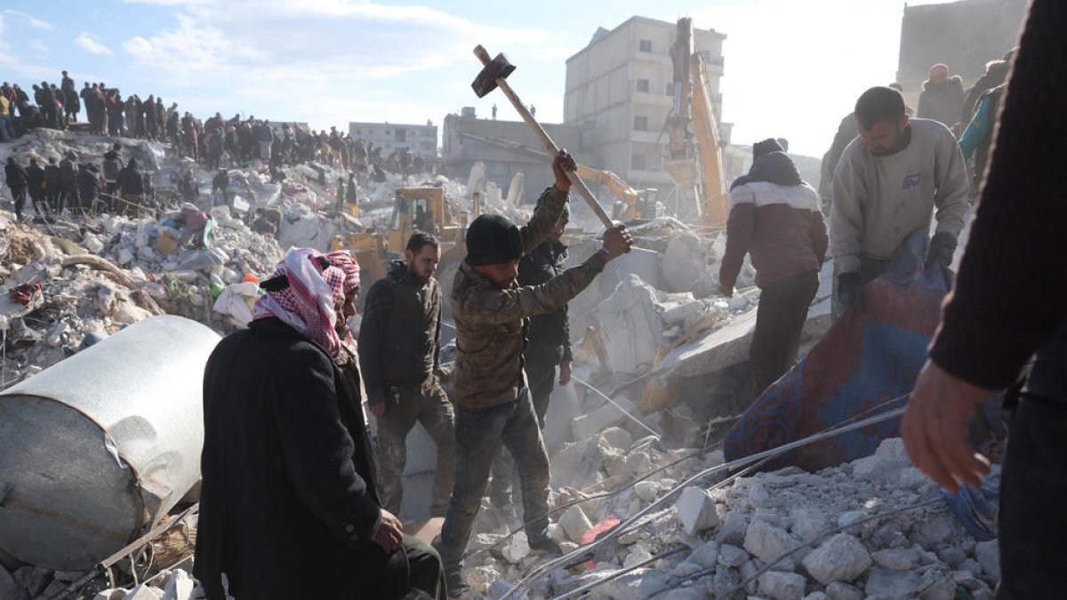
[[[59,85],[42,81],[33,84],[32,91],[31,99],[18,83],[4,81],[0,85],[0,143],[35,128],[66,130],[79,124],[78,115],[84,110],[92,135],[169,143],[179,156],[216,171],[212,195],[223,201],[228,189],[227,170],[257,159],[268,164],[273,183],[286,179],[283,167],[300,163],[324,163],[347,171],[349,180],[341,180],[339,188],[348,192],[343,200],[352,204],[357,186],[382,183],[386,172],[408,177],[434,168],[409,147],[386,154],[381,145],[341,135],[336,127],[329,132],[316,131],[289,123],[278,126],[254,115],[242,119],[240,114],[224,121],[218,112],[201,120],[188,111],[180,113],[177,102],[165,106],[163,98],[154,94],[144,100],[137,94],[124,99],[117,88],[102,81],[85,81],[78,91],[65,70]],[[150,174],[142,172],[133,158],[123,162],[121,153],[116,143],[100,164],[79,162],[74,153],[48,157],[45,163],[36,158],[25,164],[9,159],[5,180],[16,216],[21,218],[28,199],[34,212],[43,217],[64,210],[141,215],[153,196]],[[319,173],[319,184],[325,186],[325,171]],[[174,183],[182,200],[195,204],[200,196],[195,177],[186,173]]]

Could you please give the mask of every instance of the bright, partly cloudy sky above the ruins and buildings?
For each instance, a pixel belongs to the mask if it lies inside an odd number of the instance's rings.
[[[315,128],[440,124],[494,102],[516,119],[503,96],[471,91],[480,43],[508,53],[515,91],[558,122],[566,59],[598,27],[688,15],[728,35],[722,116],[734,142],[785,137],[821,156],[856,96],[894,79],[903,10],[904,0],[0,0],[0,79],[28,89],[66,69],[79,89],[105,81],[197,115]]]

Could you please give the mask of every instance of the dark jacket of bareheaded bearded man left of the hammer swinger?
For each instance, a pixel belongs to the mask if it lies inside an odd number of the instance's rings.
[[[441,287],[420,283],[397,260],[375,282],[360,325],[360,366],[367,401],[387,399],[391,388],[421,389],[440,366]]]

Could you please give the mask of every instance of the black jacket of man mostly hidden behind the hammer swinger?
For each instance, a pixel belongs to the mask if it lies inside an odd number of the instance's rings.
[[[541,285],[566,269],[567,247],[545,241],[519,262],[519,285]],[[567,305],[552,313],[530,317],[526,344],[529,348],[554,349],[559,360],[570,361],[571,327]],[[557,363],[558,364],[558,363]]]

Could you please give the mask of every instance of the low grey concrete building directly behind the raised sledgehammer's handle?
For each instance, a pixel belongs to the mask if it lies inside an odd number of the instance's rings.
[[[587,125],[541,126],[557,145],[585,160],[582,133]],[[541,191],[552,185],[552,158],[522,121],[478,119],[475,109],[466,107],[461,114],[445,116],[442,144],[442,162],[457,179],[468,177],[471,168],[481,161],[487,181],[496,184],[504,194],[515,173],[523,174],[527,202],[537,201]]]

